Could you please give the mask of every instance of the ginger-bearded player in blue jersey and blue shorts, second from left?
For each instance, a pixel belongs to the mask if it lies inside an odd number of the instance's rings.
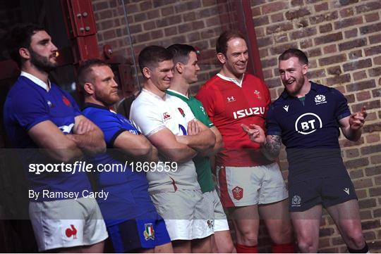
[[[119,101],[119,95],[107,63],[94,59],[80,65],[78,83],[85,94],[83,114],[102,129],[109,148],[95,155],[92,162],[112,165],[113,169],[97,172],[96,182],[97,189],[109,193],[107,200],[97,201],[114,251],[173,253],[164,220],[150,199],[143,170],[143,165],[157,161],[157,149],[123,115],[109,109]]]

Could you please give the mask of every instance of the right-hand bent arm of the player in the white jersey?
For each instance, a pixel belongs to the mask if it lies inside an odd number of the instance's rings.
[[[195,124],[195,128],[193,128]],[[199,131],[198,131],[199,129]],[[188,123],[188,135],[176,136],[176,140],[180,143],[195,149],[198,152],[209,151],[214,147],[216,137],[214,133],[200,121]]]

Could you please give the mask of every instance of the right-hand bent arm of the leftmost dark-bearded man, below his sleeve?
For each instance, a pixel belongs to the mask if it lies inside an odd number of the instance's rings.
[[[81,150],[90,154],[103,153],[106,150],[102,131],[83,115],[75,117],[73,132],[74,134],[68,134],[67,137]]]

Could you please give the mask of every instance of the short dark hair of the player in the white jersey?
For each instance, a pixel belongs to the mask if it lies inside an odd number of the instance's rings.
[[[162,61],[172,60],[174,56],[171,51],[162,46],[146,46],[139,53],[139,67],[140,71],[143,73],[143,68],[155,68],[158,63]]]

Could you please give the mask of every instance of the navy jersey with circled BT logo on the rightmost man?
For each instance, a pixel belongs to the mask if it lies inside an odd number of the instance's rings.
[[[267,113],[267,135],[282,136],[286,146],[289,179],[324,176],[332,167],[338,170],[330,175],[345,171],[338,138],[339,120],[351,115],[346,99],[336,89],[310,84],[304,104],[283,91]]]

